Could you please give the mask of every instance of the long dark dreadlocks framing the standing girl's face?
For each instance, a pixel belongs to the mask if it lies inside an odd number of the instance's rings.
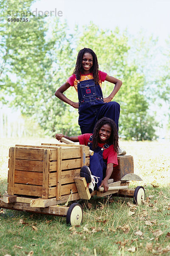
[[[87,52],[93,56],[93,66],[91,67],[91,72],[93,73],[93,79],[95,81],[95,84],[99,84],[99,64],[98,64],[97,56],[96,56],[95,52],[90,48],[83,48],[79,51],[79,53],[77,55],[76,67],[75,67],[72,75],[75,74],[77,76],[77,80],[80,80],[81,73],[83,70],[82,57]]]

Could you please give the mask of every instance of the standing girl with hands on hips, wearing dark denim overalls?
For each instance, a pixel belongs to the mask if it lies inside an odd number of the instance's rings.
[[[111,94],[103,98],[102,82],[115,84]],[[119,128],[120,105],[111,102],[119,91],[122,81],[99,71],[97,56],[92,49],[81,49],[77,56],[76,67],[72,76],[55,92],[55,96],[74,108],[79,109],[79,126],[82,134],[93,133],[96,122],[103,116],[113,119]],[[63,93],[74,86],[78,92],[79,102],[72,102]]]

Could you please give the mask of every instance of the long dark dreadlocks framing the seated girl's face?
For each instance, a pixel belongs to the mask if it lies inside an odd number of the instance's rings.
[[[109,143],[113,144],[115,151],[118,153],[119,151],[119,144],[118,144],[118,131],[116,123],[108,117],[103,117],[99,119],[98,122],[96,122],[96,125],[94,127],[94,133],[93,133],[93,149],[97,147],[97,143],[99,141],[99,130],[101,129],[102,125],[110,125],[111,126],[111,136],[109,138]]]

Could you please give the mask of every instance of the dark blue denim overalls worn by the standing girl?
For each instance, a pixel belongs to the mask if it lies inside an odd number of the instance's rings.
[[[119,128],[119,103],[105,103],[102,89],[99,84],[95,84],[94,79],[78,80],[77,92],[79,97],[79,126],[82,134],[93,133],[96,122],[104,116],[113,119],[117,129]]]

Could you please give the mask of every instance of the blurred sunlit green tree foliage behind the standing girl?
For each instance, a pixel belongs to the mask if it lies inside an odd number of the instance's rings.
[[[58,18],[48,23],[45,17],[34,16],[30,12],[31,0],[1,2],[1,99],[4,93],[12,95],[12,104],[37,120],[48,135],[54,135],[56,131],[67,135],[80,134],[77,109],[57,99],[54,93],[71,76],[79,49],[89,47],[98,56],[99,69],[123,81],[113,99],[121,105],[119,134],[127,139],[154,138],[156,123],[147,113],[145,76],[137,64],[129,64],[127,32],[120,33],[118,28],[113,32],[104,31],[90,23],[82,35],[78,28],[74,35],[70,35],[67,24]],[[10,9],[29,12],[30,21],[8,23]],[[104,96],[112,90],[113,84],[103,84]],[[74,88],[70,87],[65,94],[78,101]]]

